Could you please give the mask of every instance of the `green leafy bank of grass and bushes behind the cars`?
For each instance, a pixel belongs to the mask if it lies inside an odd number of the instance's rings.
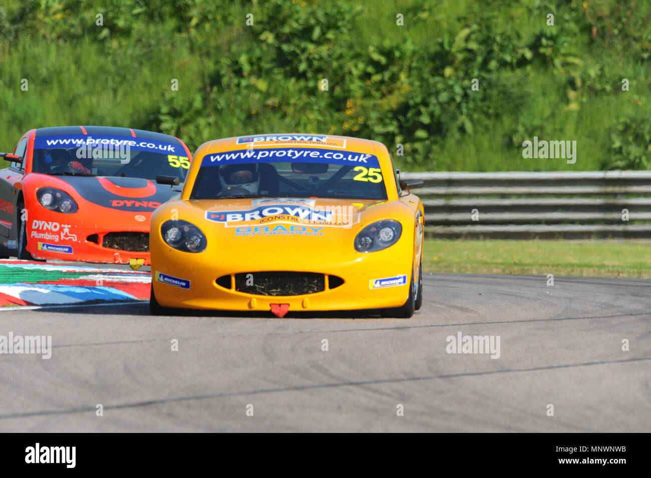
[[[95,123],[191,148],[283,131],[367,137],[403,144],[396,160],[411,170],[648,167],[648,124],[617,120],[650,112],[646,2],[5,3],[3,150],[31,127]],[[524,160],[534,135],[576,139],[576,165]]]

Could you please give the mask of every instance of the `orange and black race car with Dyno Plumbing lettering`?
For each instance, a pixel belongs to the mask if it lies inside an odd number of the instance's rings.
[[[134,269],[149,263],[152,211],[191,161],[173,136],[103,126],[32,129],[0,157],[0,257]]]

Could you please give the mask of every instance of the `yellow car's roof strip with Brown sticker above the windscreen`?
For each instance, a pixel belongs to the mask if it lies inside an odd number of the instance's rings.
[[[204,149],[205,154],[242,150],[249,144],[255,146],[268,146],[275,148],[328,148],[356,151],[362,153],[374,153],[385,150],[380,142],[363,138],[349,136],[320,135],[316,133],[268,133],[262,135],[234,136],[230,138],[215,139],[205,142],[199,148]],[[207,148],[207,149],[205,149]]]

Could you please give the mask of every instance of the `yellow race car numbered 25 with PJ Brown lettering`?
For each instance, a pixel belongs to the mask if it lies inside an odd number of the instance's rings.
[[[157,178],[178,184],[178,178]],[[183,191],[152,214],[152,314],[422,303],[423,208],[377,141],[255,135],[202,144]]]

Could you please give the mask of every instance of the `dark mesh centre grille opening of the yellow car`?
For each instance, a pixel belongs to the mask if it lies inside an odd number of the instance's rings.
[[[253,295],[305,295],[326,289],[324,274],[313,272],[243,272],[235,274],[235,290]]]

